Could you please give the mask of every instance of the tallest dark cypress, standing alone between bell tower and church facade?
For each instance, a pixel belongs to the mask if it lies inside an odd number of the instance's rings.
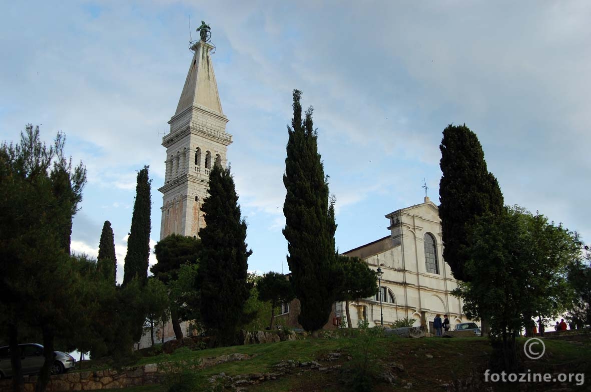
[[[335,253],[335,214],[329,206],[329,187],[317,150],[313,108],[301,113],[301,91],[293,92],[294,117],[287,127],[287,158],[283,183],[287,189],[283,235],[288,242],[287,263],[293,276],[301,312],[298,322],[307,331],[318,331],[330,317],[335,302],[339,268]],[[340,278],[339,278],[340,279]]]

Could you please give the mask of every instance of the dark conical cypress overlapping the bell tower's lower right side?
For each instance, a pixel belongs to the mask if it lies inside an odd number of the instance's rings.
[[[213,167],[207,193],[202,205],[206,226],[200,231],[201,315],[206,328],[215,330],[222,344],[231,344],[236,329],[245,322],[244,305],[251,289],[246,276],[252,251],[247,250],[246,222],[241,218],[229,168]]]

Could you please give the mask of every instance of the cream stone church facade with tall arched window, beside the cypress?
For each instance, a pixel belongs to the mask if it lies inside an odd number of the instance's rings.
[[[381,324],[382,318],[384,325],[413,318],[414,326],[424,325],[432,331],[436,314],[442,318],[447,314],[452,328],[467,321],[462,301],[450,294],[457,281],[443,260],[437,205],[425,197],[424,203],[396,210],[385,218],[389,235],[343,253],[358,256],[382,272],[378,295],[350,302],[352,325],[360,319],[374,326]],[[337,302],[335,311],[338,317],[345,317],[345,302]]]

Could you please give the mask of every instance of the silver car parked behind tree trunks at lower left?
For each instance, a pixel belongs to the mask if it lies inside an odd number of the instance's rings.
[[[21,350],[22,374],[35,374],[41,371],[45,357],[43,355],[43,345],[37,343],[19,344]],[[53,366],[51,374],[64,373],[76,365],[76,360],[72,355],[61,351],[53,352]],[[0,347],[0,378],[12,377],[12,366],[10,363],[10,347]]]

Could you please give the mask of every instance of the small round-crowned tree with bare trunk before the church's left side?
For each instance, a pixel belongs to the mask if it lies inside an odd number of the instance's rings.
[[[375,295],[378,292],[376,275],[375,271],[369,268],[361,258],[339,255],[337,261],[343,270],[343,284],[336,300],[345,301],[348,327],[353,328],[349,302]]]

